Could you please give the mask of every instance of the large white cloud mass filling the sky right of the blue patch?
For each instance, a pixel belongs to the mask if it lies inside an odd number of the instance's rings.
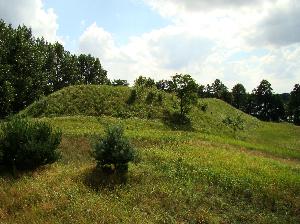
[[[131,37],[123,46],[96,24],[80,37],[80,52],[99,57],[110,78],[132,82],[138,75],[159,80],[189,73],[201,84],[219,78],[229,88],[243,83],[249,92],[262,79],[269,80],[276,92],[289,92],[299,82],[299,35],[289,39],[299,21],[295,5],[289,4],[296,0],[147,2],[169,17],[171,25]],[[283,22],[272,28],[268,21],[279,14]],[[280,44],[278,39],[286,41]]]

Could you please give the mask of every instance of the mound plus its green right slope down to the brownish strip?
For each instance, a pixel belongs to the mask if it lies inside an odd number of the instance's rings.
[[[149,93],[152,96],[151,100],[148,99]],[[146,119],[149,122],[153,120],[156,121],[155,123],[164,123],[164,111],[176,109],[176,103],[174,103],[176,97],[169,93],[151,88],[137,89],[136,99],[134,102],[128,103],[131,94],[132,88],[124,86],[71,86],[40,99],[21,111],[20,114],[35,118],[54,118],[50,119],[51,122],[59,120],[58,117],[67,116],[108,116],[120,119]],[[205,111],[201,110],[203,105],[207,105]],[[233,128],[225,125],[223,121],[227,117],[235,119],[238,116],[242,119],[243,129],[234,132]],[[280,155],[285,158],[300,159],[300,151],[295,151],[290,141],[290,138],[299,131],[299,128],[294,125],[262,122],[222,100],[212,98],[199,99],[198,104],[189,113],[189,117],[191,128],[188,127],[188,129],[186,127],[161,125],[166,130],[190,130],[194,134],[201,133],[202,138],[212,141],[219,141],[220,138],[222,142],[226,141],[228,144],[271,153],[276,156]],[[73,118],[70,119],[74,120]],[[87,122],[89,119],[83,120],[83,122]],[[74,123],[76,122],[75,119]],[[78,125],[81,126],[83,123],[80,121]],[[295,141],[300,143],[297,137],[293,140],[293,142]]]

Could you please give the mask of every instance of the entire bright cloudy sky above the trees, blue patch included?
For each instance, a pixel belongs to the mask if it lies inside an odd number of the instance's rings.
[[[0,17],[99,57],[111,79],[300,82],[300,0],[0,0]]]

